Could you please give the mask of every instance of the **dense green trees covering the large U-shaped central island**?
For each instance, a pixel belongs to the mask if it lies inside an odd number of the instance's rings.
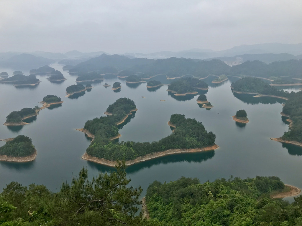
[[[153,152],[161,152],[168,149],[201,148],[212,146],[216,135],[207,132],[201,122],[195,119],[185,118],[184,115],[171,115],[170,122],[176,129],[168,137],[155,142],[120,142],[113,143],[110,137],[117,136],[116,124],[122,120],[131,109],[135,108],[134,102],[127,98],[120,98],[114,104],[109,105],[107,112],[111,116],[95,118],[85,123],[85,129],[95,135],[94,141],[87,148],[88,155],[109,160],[135,159]]]

